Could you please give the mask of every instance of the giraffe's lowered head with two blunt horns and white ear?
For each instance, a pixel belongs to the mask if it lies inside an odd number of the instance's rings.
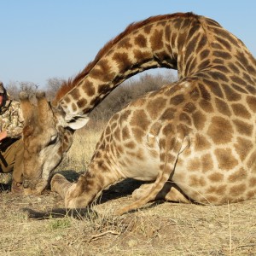
[[[68,123],[65,114],[53,108],[44,92],[36,95],[37,104],[20,93],[24,116],[24,188],[25,194],[40,194],[49,183],[54,171],[73,142],[75,122]]]

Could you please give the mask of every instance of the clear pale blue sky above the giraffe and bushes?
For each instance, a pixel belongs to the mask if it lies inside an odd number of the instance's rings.
[[[193,11],[217,20],[256,56],[255,0],[0,0],[0,80],[68,79],[133,21]]]

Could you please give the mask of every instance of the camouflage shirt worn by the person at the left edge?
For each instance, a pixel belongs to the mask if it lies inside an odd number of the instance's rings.
[[[7,100],[4,106],[0,107],[0,129],[7,131],[8,137],[21,137],[23,122],[20,102]]]

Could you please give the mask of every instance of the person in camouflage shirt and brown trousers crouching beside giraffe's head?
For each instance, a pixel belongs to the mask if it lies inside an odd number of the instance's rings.
[[[23,122],[20,102],[10,99],[0,81],[0,174],[12,172],[11,192],[15,194],[23,193]]]

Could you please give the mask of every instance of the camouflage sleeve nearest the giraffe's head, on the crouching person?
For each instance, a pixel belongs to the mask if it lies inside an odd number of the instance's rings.
[[[20,109],[20,102],[12,102],[10,106],[10,122],[6,127],[8,137],[21,137],[23,129],[23,116]]]

